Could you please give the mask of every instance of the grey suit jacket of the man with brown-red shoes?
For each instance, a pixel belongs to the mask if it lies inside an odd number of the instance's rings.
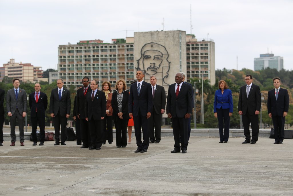
[[[14,88],[9,89],[7,91],[7,95],[6,95],[6,109],[7,109],[7,112],[10,111],[11,114],[13,115],[15,113],[15,110],[16,110],[16,105],[17,105],[18,112],[19,112],[20,115],[22,115],[23,112],[27,112],[28,99],[27,99],[25,90],[23,90],[22,88],[18,88],[17,101],[16,101],[16,98],[15,98]]]

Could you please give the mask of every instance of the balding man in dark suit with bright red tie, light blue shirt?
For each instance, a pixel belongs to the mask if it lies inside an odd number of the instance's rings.
[[[37,145],[37,127],[39,123],[40,127],[40,144],[44,145],[45,142],[45,110],[48,106],[47,95],[41,90],[40,83],[35,83],[35,92],[30,93],[28,97],[28,103],[30,105],[30,118],[32,122],[32,135],[33,135],[33,146]]]

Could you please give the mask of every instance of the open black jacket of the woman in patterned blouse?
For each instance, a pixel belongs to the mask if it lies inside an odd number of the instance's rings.
[[[113,109],[113,114],[112,114],[112,118],[113,120],[118,120],[120,119],[118,117],[118,103],[117,103],[117,94],[118,91],[116,91],[115,93],[113,93],[112,95],[112,101],[111,101],[111,105],[112,105],[112,109]],[[129,93],[127,91],[123,91],[123,98],[122,98],[122,118],[123,120],[128,120],[129,119],[129,113],[128,113],[128,100],[129,100]]]

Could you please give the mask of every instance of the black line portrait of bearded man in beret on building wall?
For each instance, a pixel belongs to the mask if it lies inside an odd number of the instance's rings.
[[[156,75],[163,80],[163,85],[168,85],[165,81],[168,78],[170,62],[168,61],[168,51],[165,46],[158,43],[147,43],[142,46],[141,57],[137,60],[137,70],[144,70],[145,75]]]

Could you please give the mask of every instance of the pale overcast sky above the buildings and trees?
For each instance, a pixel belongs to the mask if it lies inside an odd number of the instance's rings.
[[[253,58],[274,53],[293,67],[292,0],[0,0],[0,66],[10,58],[57,68],[58,46],[80,40],[182,30],[215,42],[216,69],[254,69]],[[164,29],[163,29],[164,18]],[[269,48],[269,49],[268,49]]]

